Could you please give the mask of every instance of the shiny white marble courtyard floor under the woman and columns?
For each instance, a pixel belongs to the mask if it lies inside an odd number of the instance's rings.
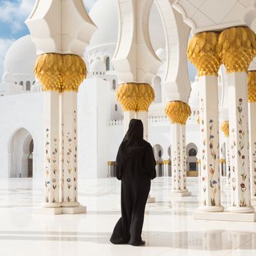
[[[120,183],[115,178],[79,182],[80,203],[87,214],[33,214],[42,201],[42,188],[29,179],[0,181],[1,256],[153,256],[255,255],[256,223],[194,221],[198,182],[188,178],[192,197],[168,196],[170,178],[157,178],[143,227],[146,246],[115,246],[109,238],[120,217]],[[227,203],[224,193],[223,204]]]

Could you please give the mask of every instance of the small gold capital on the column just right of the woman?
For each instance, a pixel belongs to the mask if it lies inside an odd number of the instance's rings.
[[[187,118],[191,116],[191,109],[185,102],[172,101],[167,103],[165,113],[170,118],[172,124],[185,125]]]

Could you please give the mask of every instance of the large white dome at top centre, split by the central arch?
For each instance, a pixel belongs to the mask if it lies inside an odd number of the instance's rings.
[[[118,12],[116,0],[98,0],[89,13],[98,29],[91,37],[91,46],[116,43],[118,37]],[[149,35],[154,50],[165,48],[165,32],[155,4],[149,15]]]

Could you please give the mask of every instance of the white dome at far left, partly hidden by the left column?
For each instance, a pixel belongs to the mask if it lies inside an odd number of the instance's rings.
[[[30,35],[20,37],[7,50],[4,58],[4,71],[12,72],[12,74],[33,74],[36,59],[37,50]]]

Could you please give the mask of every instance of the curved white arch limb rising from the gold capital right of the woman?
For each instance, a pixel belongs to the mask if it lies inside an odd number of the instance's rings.
[[[166,69],[163,79],[168,101],[188,102],[191,91],[187,67],[187,42],[189,26],[181,14],[173,9],[169,0],[155,0],[165,30]]]

